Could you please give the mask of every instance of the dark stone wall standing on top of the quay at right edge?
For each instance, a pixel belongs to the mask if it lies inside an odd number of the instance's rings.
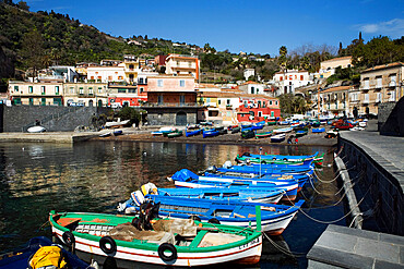
[[[404,136],[404,97],[379,105],[378,129],[381,135]]]

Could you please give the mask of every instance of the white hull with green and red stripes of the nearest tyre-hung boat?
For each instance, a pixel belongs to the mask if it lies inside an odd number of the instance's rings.
[[[50,217],[52,218],[52,217]],[[103,222],[104,221],[104,222]],[[83,221],[84,222],[84,221]],[[115,240],[116,250],[106,254],[100,248],[99,240],[105,236],[102,232],[97,233],[97,230],[104,231],[108,227],[104,219],[99,219],[99,224],[94,225],[95,230],[91,230],[86,234],[82,234],[76,231],[72,231],[74,235],[74,249],[97,256],[98,258],[114,257],[117,261],[118,267],[133,268],[133,261],[145,262],[150,265],[159,266],[179,266],[179,267],[192,267],[192,266],[212,266],[224,262],[240,262],[240,264],[257,264],[261,257],[262,250],[262,235],[260,233],[252,233],[250,239],[242,240],[228,244],[229,247],[190,247],[190,246],[175,246],[177,250],[177,258],[165,261],[158,255],[158,244],[147,244],[145,247],[131,247],[132,242],[126,242]],[[64,243],[63,233],[69,229],[52,224],[52,234]],[[83,224],[84,227],[84,224]],[[240,229],[241,231],[241,229]],[[197,235],[198,236],[198,235]],[[143,243],[140,243],[143,244]],[[138,243],[139,245],[139,243]],[[192,249],[191,249],[192,248]]]

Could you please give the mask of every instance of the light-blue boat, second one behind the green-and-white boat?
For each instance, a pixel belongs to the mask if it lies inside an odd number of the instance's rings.
[[[266,189],[266,192],[248,188],[201,187],[201,188],[158,188],[158,195],[181,198],[199,198],[215,200],[254,201],[276,204],[284,196],[283,189]]]

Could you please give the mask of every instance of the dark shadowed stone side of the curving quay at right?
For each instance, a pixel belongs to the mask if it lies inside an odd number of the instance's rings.
[[[347,171],[353,170],[360,174],[356,181],[369,188],[364,192],[371,196],[370,209],[376,215],[375,220],[378,227],[382,232],[403,235],[404,197],[400,183],[402,179],[397,179],[389,172],[389,163],[379,163],[376,161],[377,156],[369,156],[364,149],[347,139],[338,138],[338,149],[341,150],[340,157],[347,163]]]

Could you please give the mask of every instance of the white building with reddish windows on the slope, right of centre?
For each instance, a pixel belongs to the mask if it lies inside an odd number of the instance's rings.
[[[311,83],[309,72],[301,70],[286,70],[274,75],[274,83],[278,87],[275,96],[284,94],[295,94],[295,88],[309,85]]]

